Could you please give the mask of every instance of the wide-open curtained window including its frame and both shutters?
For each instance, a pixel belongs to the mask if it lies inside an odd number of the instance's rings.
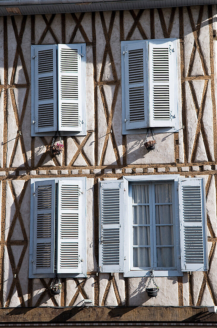
[[[101,181],[100,271],[125,277],[208,270],[203,178],[125,176]]]

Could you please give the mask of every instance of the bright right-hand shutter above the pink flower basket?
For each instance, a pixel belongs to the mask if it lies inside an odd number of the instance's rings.
[[[59,131],[82,131],[81,45],[58,45]]]

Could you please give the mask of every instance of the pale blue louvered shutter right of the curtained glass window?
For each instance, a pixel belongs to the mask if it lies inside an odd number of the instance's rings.
[[[182,271],[207,271],[206,193],[203,178],[178,180]]]

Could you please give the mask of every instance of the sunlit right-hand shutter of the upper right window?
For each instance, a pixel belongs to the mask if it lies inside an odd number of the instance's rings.
[[[176,43],[149,41],[150,127],[174,127],[177,109]]]

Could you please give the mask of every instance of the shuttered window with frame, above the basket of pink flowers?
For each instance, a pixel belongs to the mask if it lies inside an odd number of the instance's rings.
[[[85,47],[31,46],[32,136],[86,134]]]

